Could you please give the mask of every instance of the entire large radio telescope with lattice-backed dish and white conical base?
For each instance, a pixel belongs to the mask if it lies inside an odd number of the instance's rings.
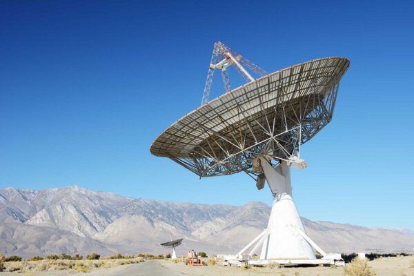
[[[230,90],[230,66],[249,82]],[[246,172],[259,190],[266,179],[273,195],[268,228],[236,259],[250,264],[343,264],[340,254],[326,254],[306,235],[292,197],[290,166],[306,168],[301,145],[331,121],[339,81],[348,67],[348,59],[327,57],[267,74],[217,42],[201,107],[152,143],[153,155],[168,157],[199,177]],[[253,79],[246,68],[259,77]],[[217,69],[228,92],[208,102]],[[259,248],[260,259],[251,259]],[[315,250],[322,259],[316,259]]]

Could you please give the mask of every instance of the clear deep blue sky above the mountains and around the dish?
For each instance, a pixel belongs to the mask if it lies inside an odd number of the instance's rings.
[[[413,14],[411,1],[2,1],[0,186],[271,204],[245,174],[199,180],[149,152],[199,106],[222,41],[268,72],[348,58],[333,121],[293,171],[297,207],[414,228]]]

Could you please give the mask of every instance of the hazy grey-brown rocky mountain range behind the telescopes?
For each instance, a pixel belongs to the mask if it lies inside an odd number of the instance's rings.
[[[0,252],[7,255],[167,253],[159,244],[184,237],[189,248],[237,253],[258,235],[270,207],[132,199],[70,186],[46,190],[0,188]],[[303,219],[327,252],[414,253],[414,235]]]

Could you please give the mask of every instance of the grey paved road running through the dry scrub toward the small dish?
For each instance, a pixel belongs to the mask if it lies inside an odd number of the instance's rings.
[[[95,275],[95,273],[100,276],[184,276],[182,273],[164,268],[157,261],[119,266],[117,270],[99,269],[88,274]]]

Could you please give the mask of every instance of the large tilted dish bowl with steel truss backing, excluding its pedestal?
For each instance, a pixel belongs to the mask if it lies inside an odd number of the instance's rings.
[[[259,153],[289,161],[331,121],[348,66],[342,57],[316,59],[251,81],[179,119],[150,152],[199,177],[255,174]]]

